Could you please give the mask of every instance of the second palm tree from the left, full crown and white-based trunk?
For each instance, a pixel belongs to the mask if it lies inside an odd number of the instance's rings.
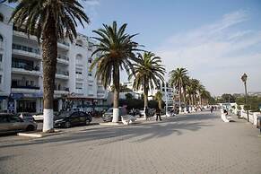
[[[103,24],[104,29],[93,30],[99,37],[93,37],[100,43],[95,44],[96,49],[91,57],[100,53],[100,57],[96,57],[91,64],[91,69],[97,65],[96,76],[100,78],[103,86],[107,86],[113,82],[114,85],[114,100],[113,100],[113,119],[112,122],[118,121],[118,94],[119,72],[125,69],[129,74],[133,71],[133,61],[137,61],[134,51],[140,51],[137,47],[138,43],[132,39],[135,35],[126,33],[127,24],[123,24],[117,29],[117,22],[113,22],[111,26]]]

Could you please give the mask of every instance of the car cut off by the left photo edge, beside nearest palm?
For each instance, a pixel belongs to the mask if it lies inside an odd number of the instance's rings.
[[[24,121],[21,117],[13,114],[0,113],[0,135],[36,129],[37,124],[35,122]]]

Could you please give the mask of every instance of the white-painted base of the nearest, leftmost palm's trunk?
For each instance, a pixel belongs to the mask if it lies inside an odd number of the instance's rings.
[[[54,110],[44,109],[43,112],[43,132],[48,132],[54,128]]]

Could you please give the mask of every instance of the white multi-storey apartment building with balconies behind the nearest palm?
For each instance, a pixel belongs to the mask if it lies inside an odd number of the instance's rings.
[[[28,38],[8,23],[12,12],[13,8],[0,4],[0,109],[42,112],[41,48],[35,36]],[[66,103],[73,107],[102,104],[107,91],[95,78],[96,68],[90,70],[93,41],[79,34],[73,43],[65,39],[57,46],[54,109],[60,110]]]

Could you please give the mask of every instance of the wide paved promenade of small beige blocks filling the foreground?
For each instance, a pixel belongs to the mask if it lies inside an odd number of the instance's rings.
[[[235,121],[200,112],[135,126],[77,127],[41,139],[0,137],[0,173],[260,174],[257,128]]]

